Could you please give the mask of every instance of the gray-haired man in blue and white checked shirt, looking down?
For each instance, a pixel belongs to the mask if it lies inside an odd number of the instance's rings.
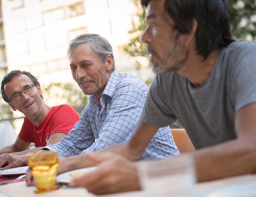
[[[56,151],[59,157],[78,156],[112,144],[126,142],[140,119],[148,87],[137,76],[115,71],[115,60],[108,40],[98,34],[82,34],[68,47],[74,80],[89,103],[68,136],[43,150]],[[160,128],[140,160],[180,155],[169,127]],[[83,157],[84,158],[84,157]],[[23,156],[25,162],[27,156]],[[59,158],[58,173],[94,165],[91,160]]]

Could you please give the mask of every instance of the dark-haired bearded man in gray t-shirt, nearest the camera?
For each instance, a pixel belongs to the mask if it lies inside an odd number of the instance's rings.
[[[97,194],[139,189],[128,160],[139,159],[157,129],[176,119],[197,149],[190,155],[198,181],[256,173],[256,44],[232,39],[227,1],[141,4],[148,10],[141,40],[157,76],[131,138],[102,150],[124,157],[92,154],[100,168],[71,186]]]

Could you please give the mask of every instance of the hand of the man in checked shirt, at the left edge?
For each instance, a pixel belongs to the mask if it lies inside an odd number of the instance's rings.
[[[0,155],[0,168],[4,167],[4,170],[26,165],[28,165],[27,155]]]

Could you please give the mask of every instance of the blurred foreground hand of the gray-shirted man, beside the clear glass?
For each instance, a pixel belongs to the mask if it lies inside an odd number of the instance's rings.
[[[99,163],[99,168],[74,179],[69,186],[85,187],[94,194],[140,190],[135,162],[119,155],[87,154],[87,157]]]

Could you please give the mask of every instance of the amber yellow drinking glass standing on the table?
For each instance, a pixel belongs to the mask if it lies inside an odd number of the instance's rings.
[[[59,188],[55,180],[59,166],[56,152],[32,153],[28,156],[28,165],[35,181],[36,193]]]

